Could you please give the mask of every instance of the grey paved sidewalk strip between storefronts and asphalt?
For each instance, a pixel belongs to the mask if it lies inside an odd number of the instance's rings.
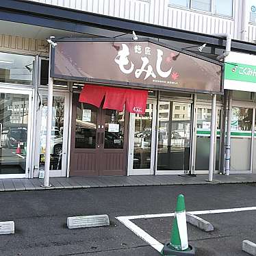
[[[51,188],[42,188],[42,179],[0,179],[0,192],[21,190],[49,190],[68,188],[109,188],[142,185],[206,185],[231,183],[256,183],[256,175],[214,175],[208,182],[208,175],[181,177],[179,175],[141,175],[109,177],[57,177],[50,178]]]

